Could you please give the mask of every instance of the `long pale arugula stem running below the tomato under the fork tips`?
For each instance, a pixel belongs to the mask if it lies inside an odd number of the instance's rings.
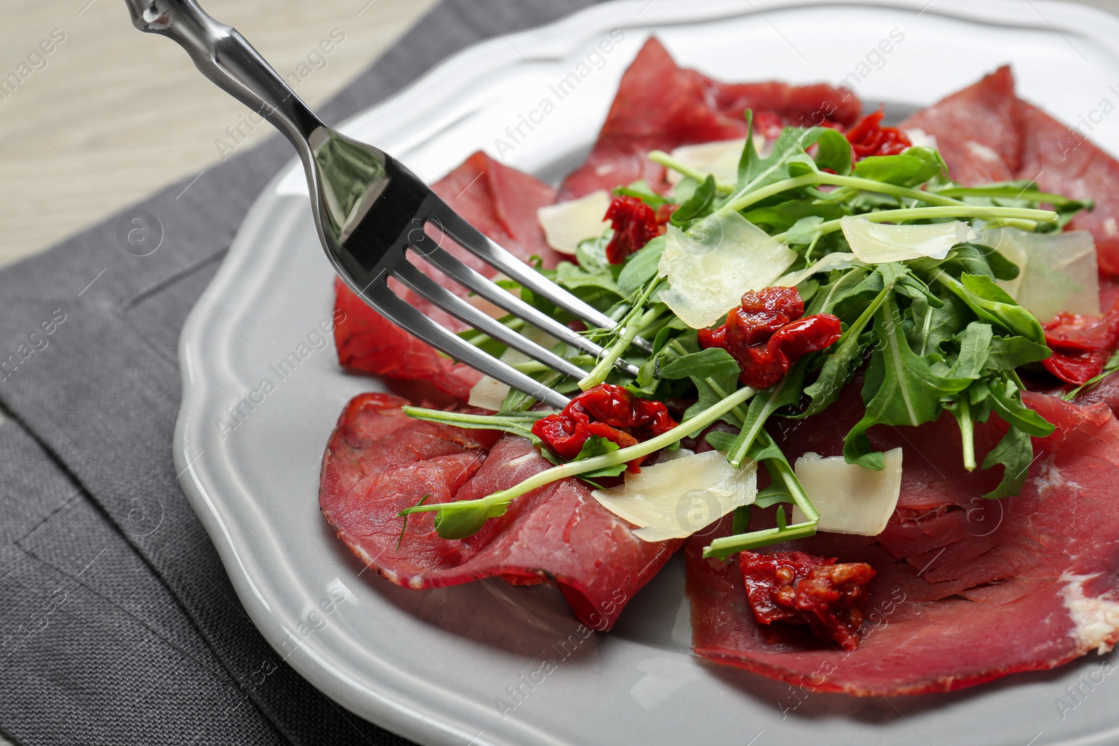
[[[558,466],[553,466],[552,469],[546,469],[533,476],[529,476],[525,481],[520,482],[516,487],[511,487],[507,490],[499,490],[492,494],[486,495],[485,498],[479,498],[477,500],[460,500],[458,502],[443,502],[436,504],[425,504],[415,506],[413,508],[406,508],[401,511],[399,514],[407,516],[414,512],[431,512],[431,511],[459,511],[469,509],[489,509],[497,506],[508,504],[513,502],[516,498],[532,492],[533,490],[551,484],[562,479],[568,476],[579,476],[580,474],[596,471],[599,469],[606,469],[608,466],[617,466],[623,464],[634,459],[641,459],[655,451],[667,447],[673,443],[676,443],[683,437],[687,437],[692,433],[703,429],[707,425],[712,424],[723,415],[725,415],[731,409],[735,408],[743,402],[747,400],[754,395],[754,389],[750,387],[743,387],[736,390],[731,396],[726,397],[718,404],[712,406],[709,409],[703,412],[702,414],[693,417],[686,423],[681,423],[656,437],[651,437],[643,443],[638,443],[637,445],[631,445],[626,448],[619,448],[618,451],[611,451],[610,453],[603,454],[601,456],[592,456],[591,459],[582,459],[580,461],[572,461],[566,464],[561,464]]]

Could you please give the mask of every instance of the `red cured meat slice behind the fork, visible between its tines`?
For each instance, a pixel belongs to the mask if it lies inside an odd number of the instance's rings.
[[[536,255],[549,267],[560,261],[560,255],[545,243],[536,219],[537,208],[555,199],[555,190],[547,185],[479,152],[432,185],[432,189],[471,225],[520,258]],[[493,276],[492,267],[451,242],[444,242],[444,247],[486,276]],[[467,295],[461,285],[420,264],[440,284]],[[397,294],[443,327],[455,332],[466,329],[458,319],[392,282]],[[338,360],[344,367],[389,378],[430,380],[458,398],[466,398],[478,383],[478,371],[453,362],[392,324],[341,282],[335,282],[335,292],[336,310],[345,314],[335,327]]]

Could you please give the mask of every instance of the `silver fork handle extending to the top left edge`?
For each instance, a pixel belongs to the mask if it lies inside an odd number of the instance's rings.
[[[132,23],[187,50],[195,66],[219,88],[265,117],[309,155],[308,140],[322,121],[237,29],[219,23],[195,0],[125,0]]]

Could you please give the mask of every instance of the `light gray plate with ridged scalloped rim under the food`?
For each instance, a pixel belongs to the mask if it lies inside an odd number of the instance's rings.
[[[592,54],[611,29],[622,41]],[[876,51],[892,30],[903,38]],[[586,152],[649,34],[681,64],[723,79],[846,79],[868,105],[931,103],[1010,62],[1025,97],[1119,152],[1119,115],[1101,114],[1102,100],[1119,102],[1109,87],[1119,84],[1119,21],[1041,0],[611,3],[468,49],[344,129],[427,179],[478,148],[556,179]],[[571,73],[579,82],[561,100],[556,86]],[[554,111],[533,114],[545,97]],[[514,140],[506,128],[521,115],[539,122]],[[345,375],[321,334],[331,271],[302,179],[293,164],[261,195],[190,314],[175,457],[253,621],[345,707],[421,743],[459,746],[1119,739],[1119,684],[1094,655],[891,700],[806,696],[708,664],[688,650],[678,561],[612,633],[585,639],[551,587],[416,592],[363,574],[319,513],[319,461],[345,403],[383,385]]]

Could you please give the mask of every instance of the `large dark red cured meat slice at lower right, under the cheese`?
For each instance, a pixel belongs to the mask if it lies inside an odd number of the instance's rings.
[[[686,545],[695,651],[806,689],[874,696],[953,690],[1110,650],[1119,639],[1119,422],[1100,405],[1025,396],[1056,431],[1035,438],[1019,497],[978,498],[997,475],[962,471],[958,450],[946,447],[959,440],[950,416],[920,428],[880,426],[871,432],[876,447],[905,448],[902,500],[886,531],[772,547],[877,570],[857,650],[831,648],[803,627],[759,625],[736,560],[700,556],[728,532],[725,522]],[[858,407],[848,390],[828,409],[827,427],[810,418],[790,428],[786,453],[835,440]],[[979,427],[980,452],[1004,428]]]

